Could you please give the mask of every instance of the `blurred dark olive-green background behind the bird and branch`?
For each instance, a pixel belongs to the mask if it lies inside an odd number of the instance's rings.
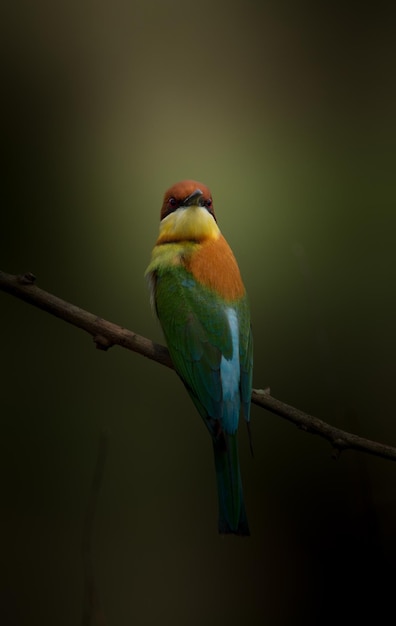
[[[0,268],[162,342],[143,278],[162,195],[201,180],[249,291],[254,385],[396,445],[391,3],[2,12]],[[254,459],[240,433],[252,537],[221,539],[210,440],[174,373],[4,293],[0,315],[2,624],[81,622],[102,429],[108,624],[384,623],[394,464],[334,461],[254,407]]]

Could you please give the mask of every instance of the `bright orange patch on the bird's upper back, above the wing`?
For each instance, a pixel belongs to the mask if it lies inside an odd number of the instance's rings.
[[[199,282],[226,300],[238,300],[245,295],[238,264],[222,235],[203,243],[188,259],[186,267]]]

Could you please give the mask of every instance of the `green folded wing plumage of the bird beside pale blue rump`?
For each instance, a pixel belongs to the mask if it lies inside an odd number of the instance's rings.
[[[246,298],[227,302],[182,266],[157,268],[154,280],[155,306],[176,371],[211,434],[216,437],[217,420],[226,432],[235,432],[241,400],[246,419],[250,409],[252,344]],[[240,372],[235,393],[225,402],[221,367],[222,359],[224,363],[233,356],[230,308],[238,319]]]

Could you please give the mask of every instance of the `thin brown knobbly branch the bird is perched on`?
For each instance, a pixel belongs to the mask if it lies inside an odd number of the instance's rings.
[[[85,330],[92,335],[97,348],[108,350],[111,346],[118,345],[173,369],[169,352],[165,346],[156,344],[117,324],[84,311],[74,304],[36,287],[34,282],[35,277],[30,273],[14,276],[0,271],[0,289],[2,291],[6,291],[65,320],[69,324]],[[396,461],[396,448],[335,428],[317,417],[277,400],[271,396],[268,389],[253,389],[252,402],[296,424],[302,430],[329,441],[334,449],[333,456],[335,458],[343,450],[352,449]]]

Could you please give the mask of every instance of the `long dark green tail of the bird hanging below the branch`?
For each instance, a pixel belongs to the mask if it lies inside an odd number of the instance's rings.
[[[213,439],[213,450],[219,498],[219,533],[250,535],[239,470],[237,433],[224,433],[219,439]]]

